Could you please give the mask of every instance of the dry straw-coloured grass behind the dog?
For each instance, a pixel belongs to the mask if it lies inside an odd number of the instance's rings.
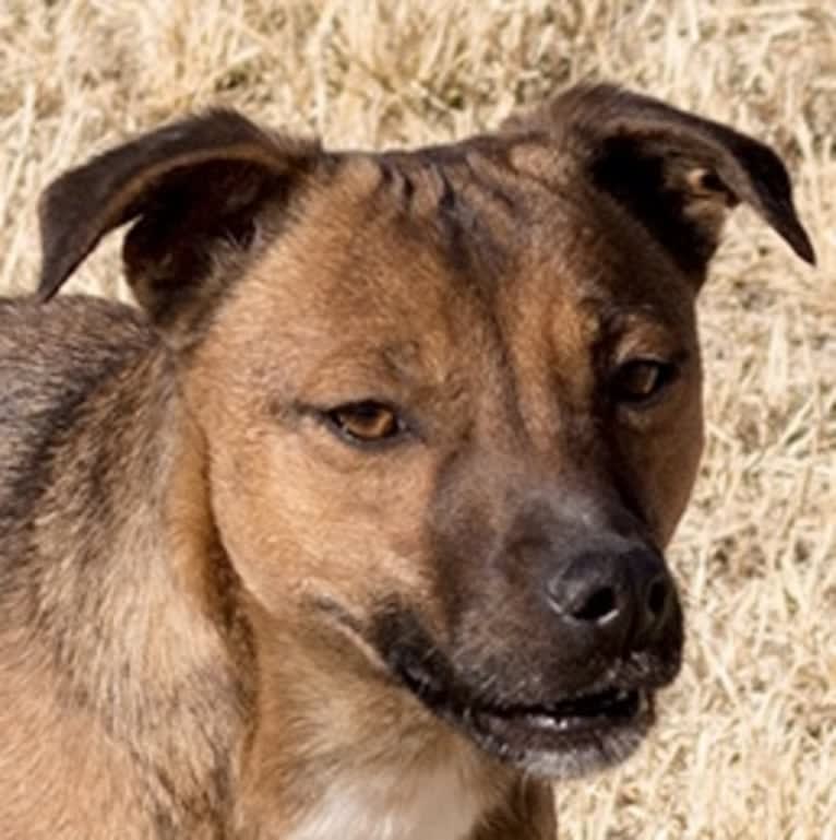
[[[0,0],[0,69],[3,291],[34,284],[46,180],[206,103],[382,145],[609,78],[776,144],[820,268],[745,212],[730,226],[702,309],[707,453],[672,551],[688,662],[652,743],[560,791],[561,837],[836,838],[836,7]],[[111,246],[74,283],[116,277]]]

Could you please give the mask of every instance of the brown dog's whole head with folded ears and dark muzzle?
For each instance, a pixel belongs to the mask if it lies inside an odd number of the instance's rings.
[[[41,294],[132,223],[256,642],[304,628],[560,777],[630,753],[680,665],[694,301],[741,202],[812,262],[769,149],[608,86],[383,154],[212,113],[47,191]]]

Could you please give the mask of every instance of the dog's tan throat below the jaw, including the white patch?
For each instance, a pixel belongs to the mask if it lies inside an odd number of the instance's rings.
[[[264,840],[470,838],[510,773],[327,628],[251,615],[265,641],[240,824]]]

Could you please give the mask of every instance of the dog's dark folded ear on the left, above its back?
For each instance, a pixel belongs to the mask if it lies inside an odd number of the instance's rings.
[[[244,250],[267,202],[286,202],[321,156],[312,141],[214,110],[106,152],[58,178],[40,200],[38,294],[50,298],[103,236],[134,221],[126,275],[165,323],[212,273],[222,249]]]

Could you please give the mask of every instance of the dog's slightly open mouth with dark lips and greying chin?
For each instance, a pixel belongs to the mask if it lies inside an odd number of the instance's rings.
[[[549,779],[598,770],[635,752],[655,721],[656,690],[679,670],[678,654],[612,664],[585,688],[551,697],[539,690],[529,701],[525,693],[495,690],[497,679],[461,673],[410,611],[381,611],[370,632],[333,604],[329,612],[429,711],[493,757]],[[494,686],[489,696],[474,687],[486,682]]]

